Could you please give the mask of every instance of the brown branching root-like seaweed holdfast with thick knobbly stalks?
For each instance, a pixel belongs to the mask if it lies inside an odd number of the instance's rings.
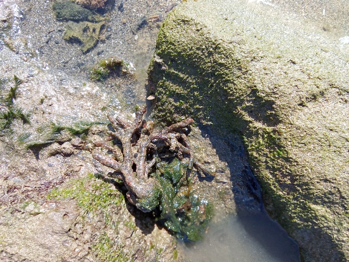
[[[109,115],[114,128],[114,131],[109,131],[109,140],[118,140],[119,145],[95,142],[97,148],[92,150],[92,157],[115,170],[116,176],[128,189],[127,198],[133,205],[143,212],[150,212],[160,204],[161,187],[154,172],[158,161],[165,158],[185,160],[189,169],[193,165],[197,168],[202,165],[194,161],[186,137],[193,119],[187,118],[161,131],[154,131],[153,121],[143,120],[145,112],[146,106],[143,106],[133,123]],[[100,148],[110,154],[103,153]]]

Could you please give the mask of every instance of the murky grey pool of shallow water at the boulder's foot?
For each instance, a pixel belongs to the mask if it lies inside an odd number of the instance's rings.
[[[183,249],[185,262],[300,261],[298,245],[265,212],[230,216]]]

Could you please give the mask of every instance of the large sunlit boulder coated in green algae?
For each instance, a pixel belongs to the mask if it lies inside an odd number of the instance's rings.
[[[244,0],[179,5],[149,68],[156,118],[242,135],[266,209],[304,261],[349,260],[348,46]]]

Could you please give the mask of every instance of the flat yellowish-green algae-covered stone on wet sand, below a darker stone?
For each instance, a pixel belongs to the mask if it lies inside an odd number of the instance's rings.
[[[64,40],[77,41],[81,44],[81,51],[88,52],[99,41],[99,35],[105,22],[73,22],[69,21],[65,28]]]

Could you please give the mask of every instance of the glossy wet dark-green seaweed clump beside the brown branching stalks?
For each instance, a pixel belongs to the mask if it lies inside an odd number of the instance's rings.
[[[213,217],[213,205],[190,192],[187,179],[183,180],[187,166],[178,159],[158,165],[161,176],[156,176],[161,188],[160,221],[179,239],[200,241]],[[178,194],[185,188],[188,194]]]

